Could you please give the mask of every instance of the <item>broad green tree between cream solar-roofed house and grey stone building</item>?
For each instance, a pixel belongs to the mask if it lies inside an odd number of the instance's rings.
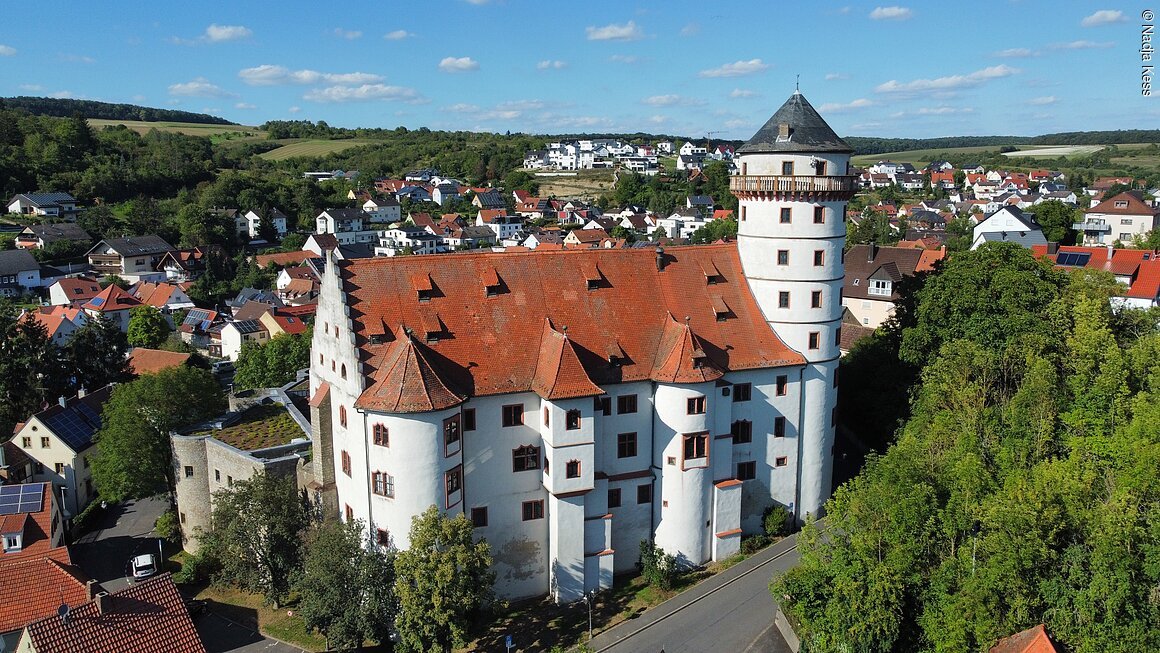
[[[184,365],[114,387],[101,411],[93,483],[110,501],[168,492],[174,483],[169,431],[225,409],[213,375]]]

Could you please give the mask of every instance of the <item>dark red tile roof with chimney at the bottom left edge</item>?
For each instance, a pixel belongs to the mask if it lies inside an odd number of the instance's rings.
[[[37,651],[205,653],[169,574],[79,605],[67,623],[56,615],[32,622],[26,637]]]

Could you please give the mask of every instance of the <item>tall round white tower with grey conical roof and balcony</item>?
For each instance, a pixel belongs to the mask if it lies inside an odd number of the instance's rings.
[[[737,150],[739,174],[730,180],[740,202],[737,239],[746,281],[769,326],[806,360],[796,429],[799,517],[820,514],[831,494],[846,203],[857,188],[849,174],[853,153],[793,92]]]

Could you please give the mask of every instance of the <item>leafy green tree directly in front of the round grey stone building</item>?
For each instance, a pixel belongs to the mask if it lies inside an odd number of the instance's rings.
[[[277,608],[302,573],[312,514],[293,474],[255,473],[213,493],[212,527],[195,534],[198,554],[213,561],[216,580],[261,594]]]

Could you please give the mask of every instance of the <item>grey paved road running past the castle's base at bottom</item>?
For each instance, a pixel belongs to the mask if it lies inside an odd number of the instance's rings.
[[[798,560],[786,538],[593,639],[597,653],[789,653],[774,627],[769,579]]]

